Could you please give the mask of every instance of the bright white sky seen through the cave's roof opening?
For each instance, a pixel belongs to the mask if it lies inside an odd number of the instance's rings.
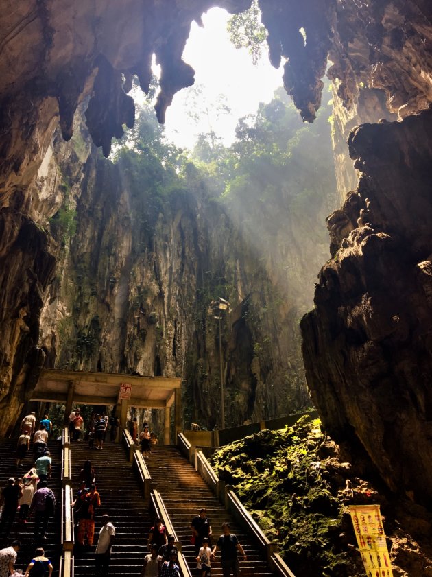
[[[183,60],[195,69],[195,84],[204,85],[210,108],[219,95],[226,95],[231,115],[213,120],[213,130],[229,145],[235,138],[235,126],[240,117],[255,113],[259,102],[269,102],[282,86],[283,69],[276,70],[266,55],[254,66],[246,49],[237,50],[230,43],[226,23],[230,14],[212,8],[203,15],[204,28],[195,22],[184,49]],[[191,148],[195,134],[208,132],[208,119],[197,128],[187,116],[187,92],[183,89],[167,110],[166,134],[178,146]]]

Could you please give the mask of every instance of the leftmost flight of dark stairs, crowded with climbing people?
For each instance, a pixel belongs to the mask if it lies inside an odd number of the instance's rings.
[[[0,440],[0,486],[5,487],[10,477],[22,478],[29,469],[34,466],[32,447],[27,452],[23,460],[23,467],[16,467],[16,440]],[[62,447],[58,440],[49,440],[48,449],[51,453],[52,472],[51,479],[48,480],[48,486],[56,495],[56,515],[49,519],[47,530],[47,541],[41,545],[33,544],[34,537],[34,513],[28,518],[26,524],[18,522],[18,513],[15,517],[14,525],[10,532],[10,539],[0,541],[0,548],[8,547],[14,539],[21,541],[21,550],[18,552],[15,567],[16,569],[27,569],[27,565],[32,561],[37,546],[45,550],[45,556],[51,559],[54,571],[53,576],[58,576],[58,566],[60,561],[60,508],[62,503],[61,491],[61,469],[62,469]]]

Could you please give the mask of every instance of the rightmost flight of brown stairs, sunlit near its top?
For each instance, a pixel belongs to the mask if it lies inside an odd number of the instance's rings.
[[[152,447],[151,456],[146,460],[146,464],[163,498],[177,537],[182,543],[182,552],[192,574],[197,575],[200,572],[195,570],[195,547],[190,541],[191,520],[198,515],[200,508],[204,507],[211,519],[212,547],[222,533],[221,524],[224,521],[230,523],[231,532],[237,535],[239,543],[248,556],[247,561],[243,561],[240,557],[242,577],[273,575],[258,547],[232,519],[201,475],[195,471],[177,447],[171,445]],[[220,560],[220,552],[218,552],[216,561],[213,561],[211,565],[213,577],[222,575]]]

